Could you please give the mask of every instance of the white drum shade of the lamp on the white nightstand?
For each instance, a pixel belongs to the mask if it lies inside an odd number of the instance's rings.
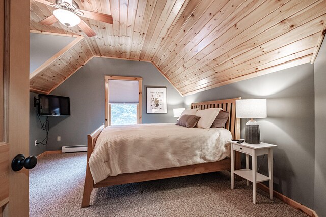
[[[236,100],[235,105],[237,118],[267,117],[266,99]]]

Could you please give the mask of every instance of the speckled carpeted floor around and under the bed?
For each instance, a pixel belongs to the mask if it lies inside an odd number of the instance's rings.
[[[95,189],[81,208],[86,153],[48,155],[30,171],[30,216],[306,216],[236,182],[230,173],[147,181]]]

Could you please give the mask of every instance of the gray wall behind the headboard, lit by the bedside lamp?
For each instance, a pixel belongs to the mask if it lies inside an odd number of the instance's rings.
[[[325,85],[324,85],[325,86]],[[308,207],[314,201],[314,69],[305,64],[186,96],[185,105],[217,99],[267,98],[268,118],[257,119],[261,140],[274,150],[275,190]],[[241,135],[248,120],[241,120]],[[258,160],[258,165],[261,158]],[[260,172],[267,173],[267,158]]]

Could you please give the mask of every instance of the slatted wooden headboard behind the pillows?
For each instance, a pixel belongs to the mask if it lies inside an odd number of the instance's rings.
[[[191,108],[207,109],[207,108],[222,108],[223,111],[229,112],[229,118],[225,123],[224,128],[231,131],[233,139],[240,139],[240,118],[235,117],[235,100],[240,100],[241,97],[225,100],[214,100],[200,103],[192,103]]]

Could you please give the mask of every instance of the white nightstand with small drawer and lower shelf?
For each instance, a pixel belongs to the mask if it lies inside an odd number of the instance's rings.
[[[247,144],[245,142],[238,144],[237,141],[228,141],[231,143],[231,189],[234,188],[234,174],[241,176],[253,183],[253,200],[256,204],[257,183],[269,181],[269,198],[273,200],[273,147],[277,145],[261,142],[259,145]],[[246,169],[234,170],[235,151],[246,154]],[[257,173],[257,156],[268,154],[268,177]],[[249,169],[249,156],[252,156],[252,170]]]

